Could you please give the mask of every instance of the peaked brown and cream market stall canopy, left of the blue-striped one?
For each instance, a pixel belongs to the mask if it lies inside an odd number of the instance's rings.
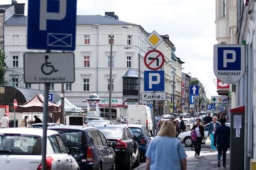
[[[17,112],[43,112],[44,108],[44,96],[42,94],[36,94],[30,101],[23,105],[18,105]],[[58,113],[61,110],[59,104],[54,104],[48,101],[48,111]]]

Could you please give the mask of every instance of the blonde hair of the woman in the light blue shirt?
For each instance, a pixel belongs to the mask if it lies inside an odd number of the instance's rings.
[[[163,121],[158,136],[176,137],[175,127],[172,121]]]

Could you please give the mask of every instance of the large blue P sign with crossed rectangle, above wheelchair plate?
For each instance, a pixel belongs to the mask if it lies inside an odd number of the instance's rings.
[[[28,49],[76,47],[76,0],[28,1]]]

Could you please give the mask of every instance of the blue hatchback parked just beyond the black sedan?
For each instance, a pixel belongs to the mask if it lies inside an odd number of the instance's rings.
[[[135,137],[135,140],[140,145],[140,161],[146,162],[146,151],[148,145],[151,142],[150,135],[147,128],[144,125],[128,125],[132,135]]]

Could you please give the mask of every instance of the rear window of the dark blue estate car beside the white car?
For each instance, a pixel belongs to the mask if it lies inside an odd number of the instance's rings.
[[[81,146],[82,132],[76,129],[52,129],[60,134],[60,137],[67,146]]]

